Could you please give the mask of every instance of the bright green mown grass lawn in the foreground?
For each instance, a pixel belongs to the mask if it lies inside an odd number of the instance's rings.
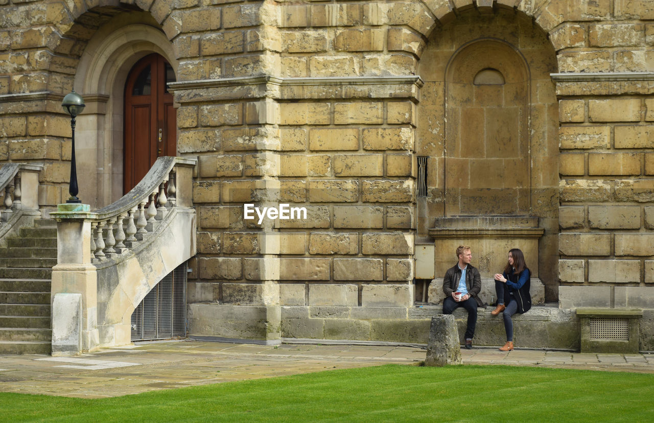
[[[384,365],[107,399],[0,394],[6,422],[654,420],[654,375]]]

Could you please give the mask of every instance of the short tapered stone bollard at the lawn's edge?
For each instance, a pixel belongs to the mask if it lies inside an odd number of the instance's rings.
[[[432,317],[424,365],[442,367],[461,363],[461,348],[458,344],[458,330],[454,316],[440,314]]]

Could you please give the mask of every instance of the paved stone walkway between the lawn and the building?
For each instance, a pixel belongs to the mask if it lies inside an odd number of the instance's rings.
[[[654,373],[654,354],[462,350],[464,364],[536,365]],[[328,369],[421,363],[418,347],[166,341],[78,357],[0,356],[0,392],[105,398]]]

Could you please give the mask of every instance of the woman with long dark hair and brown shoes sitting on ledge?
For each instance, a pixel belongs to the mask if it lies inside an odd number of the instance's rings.
[[[490,312],[493,316],[502,313],[504,317],[504,330],[506,330],[506,344],[500,351],[513,350],[513,320],[515,313],[526,313],[531,308],[529,295],[529,278],[531,271],[525,264],[525,256],[518,248],[509,250],[509,262],[504,273],[497,273],[495,279],[495,292],[497,294],[497,307]]]

